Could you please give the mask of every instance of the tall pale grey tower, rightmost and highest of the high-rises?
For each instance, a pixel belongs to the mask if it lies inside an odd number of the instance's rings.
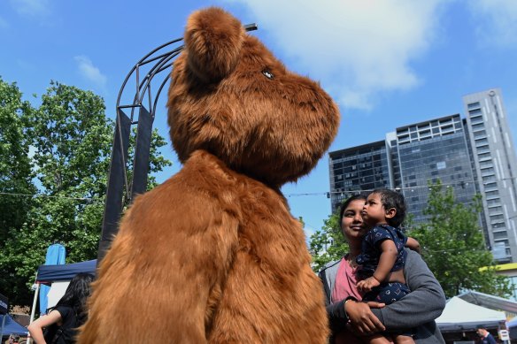
[[[463,97],[472,160],[494,256],[517,262],[517,160],[498,88]]]

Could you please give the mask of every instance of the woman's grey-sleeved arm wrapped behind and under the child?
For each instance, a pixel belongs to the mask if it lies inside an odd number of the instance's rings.
[[[412,328],[439,317],[445,308],[444,290],[421,256],[406,249],[404,275],[411,293],[397,302],[372,312],[388,331]]]

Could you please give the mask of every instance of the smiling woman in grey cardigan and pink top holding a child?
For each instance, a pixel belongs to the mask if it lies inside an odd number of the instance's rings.
[[[375,333],[413,329],[416,344],[443,344],[434,319],[444,310],[444,291],[418,253],[406,250],[404,277],[411,293],[390,305],[359,302],[356,257],[361,254],[362,241],[368,232],[361,217],[366,200],[364,195],[355,195],[343,203],[340,223],[350,252],[320,271],[327,295],[331,342],[366,342]]]

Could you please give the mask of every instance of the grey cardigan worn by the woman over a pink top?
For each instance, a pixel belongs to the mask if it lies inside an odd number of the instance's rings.
[[[444,290],[421,256],[412,250],[406,250],[404,275],[411,293],[400,301],[372,311],[387,330],[415,329],[414,340],[417,344],[444,344],[442,333],[435,323],[436,317],[439,317],[445,308]],[[327,313],[332,333],[342,329],[348,321],[344,311],[344,300],[330,304],[330,294],[336,282],[340,262],[325,265],[319,273],[327,295]]]

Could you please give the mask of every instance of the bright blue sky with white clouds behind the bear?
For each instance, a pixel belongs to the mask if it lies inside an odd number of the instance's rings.
[[[382,140],[397,126],[463,115],[461,97],[488,88],[502,89],[515,142],[513,0],[4,0],[0,76],[16,81],[26,99],[41,96],[50,80],[91,89],[113,117],[131,67],[181,37],[189,13],[209,5],[257,23],[252,34],[334,97],[342,123],[331,150]],[[154,126],[168,137],[163,102]],[[159,180],[181,168],[170,145],[163,154],[174,166]],[[328,188],[327,156],[308,176],[282,187],[307,234],[328,218]]]

